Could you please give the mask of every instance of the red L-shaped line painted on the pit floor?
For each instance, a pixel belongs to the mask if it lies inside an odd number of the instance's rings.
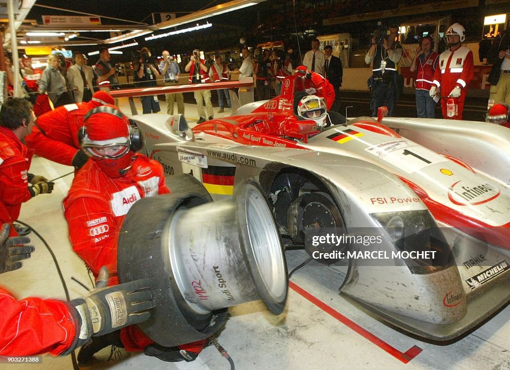
[[[368,330],[362,328],[360,325],[356,324],[352,320],[350,320],[350,319],[346,318],[345,316],[343,316],[342,314],[340,314],[340,312],[335,310],[333,307],[328,306],[327,304],[325,304],[324,302],[322,302],[315,296],[311,295],[310,293],[308,293],[307,291],[305,291],[304,289],[299,287],[294,282],[289,281],[289,288],[292,289],[293,291],[295,291],[296,293],[298,293],[299,295],[301,295],[302,297],[308,299],[310,302],[312,302],[317,307],[319,307],[324,312],[326,312],[326,314],[333,316],[335,319],[340,321],[342,324],[344,324],[348,328],[354,330],[356,333],[360,334],[361,336],[365,337],[366,339],[370,340],[374,345],[381,348],[382,350],[385,350],[390,355],[399,359],[403,363],[407,363],[407,362],[411,361],[419,353],[421,353],[421,351],[423,351],[420,347],[413,346],[405,352],[400,352],[396,348],[390,346],[384,340],[376,337],[374,334],[372,334]]]

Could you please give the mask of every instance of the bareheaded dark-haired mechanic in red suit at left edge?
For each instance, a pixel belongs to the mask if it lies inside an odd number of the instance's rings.
[[[53,182],[28,172],[33,151],[21,140],[30,134],[35,119],[32,104],[23,98],[9,99],[0,109],[0,223],[12,225],[21,203],[53,190]],[[11,236],[16,235],[12,227]]]

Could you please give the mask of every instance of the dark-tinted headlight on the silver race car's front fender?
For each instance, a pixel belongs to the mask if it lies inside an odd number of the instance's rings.
[[[403,259],[413,274],[427,274],[454,265],[450,246],[427,210],[380,212],[370,216],[382,226],[397,251],[407,252],[401,255],[409,255]]]

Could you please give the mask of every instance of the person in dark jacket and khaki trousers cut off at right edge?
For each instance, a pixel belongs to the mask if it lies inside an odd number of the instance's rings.
[[[499,38],[499,42],[498,42]],[[489,63],[494,64],[489,73],[491,82],[489,105],[504,102],[510,105],[510,32],[498,35],[489,51]]]

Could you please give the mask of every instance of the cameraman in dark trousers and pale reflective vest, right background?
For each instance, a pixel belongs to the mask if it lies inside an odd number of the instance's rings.
[[[398,36],[398,26],[390,26],[390,34],[385,31],[374,31],[372,45],[365,55],[365,63],[372,66],[372,101],[370,107],[372,116],[377,116],[380,106],[388,107],[388,116],[393,116],[395,109],[395,74],[397,64],[402,58],[402,45],[395,41]]]

